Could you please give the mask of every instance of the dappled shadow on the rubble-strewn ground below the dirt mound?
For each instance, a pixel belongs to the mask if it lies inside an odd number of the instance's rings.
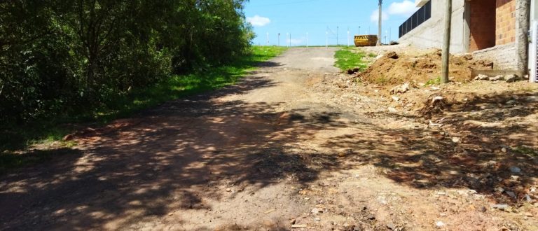
[[[506,204],[518,204],[526,195],[538,199],[529,193],[538,177],[536,94],[469,97],[430,119],[443,126],[364,125],[360,132],[324,146],[351,148],[354,160],[381,167],[387,178],[413,188],[469,188]]]

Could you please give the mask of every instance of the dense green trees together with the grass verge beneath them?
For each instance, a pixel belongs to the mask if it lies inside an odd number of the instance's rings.
[[[278,55],[284,48],[251,46],[243,3],[1,2],[0,170],[77,123],[233,84]]]

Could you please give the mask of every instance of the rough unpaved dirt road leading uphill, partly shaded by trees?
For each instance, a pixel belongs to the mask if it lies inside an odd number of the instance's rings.
[[[238,85],[118,120],[69,154],[1,176],[0,229],[537,227],[490,209],[482,192],[441,185],[465,167],[434,159],[424,125],[368,116],[385,110],[379,99],[327,84],[334,51],[291,49]]]

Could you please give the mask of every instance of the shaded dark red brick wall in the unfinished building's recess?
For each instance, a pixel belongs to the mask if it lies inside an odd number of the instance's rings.
[[[495,1],[499,0],[468,1],[471,30],[469,51],[471,52],[495,46]]]

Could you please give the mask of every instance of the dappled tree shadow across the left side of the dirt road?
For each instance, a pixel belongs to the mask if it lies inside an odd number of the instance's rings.
[[[281,144],[346,127],[338,113],[217,100],[277,84],[253,76],[81,133],[78,155],[1,177],[0,223],[10,230],[134,229],[172,209],[211,209],[207,200],[228,195],[230,184],[304,184],[340,167],[333,153],[307,156]]]

